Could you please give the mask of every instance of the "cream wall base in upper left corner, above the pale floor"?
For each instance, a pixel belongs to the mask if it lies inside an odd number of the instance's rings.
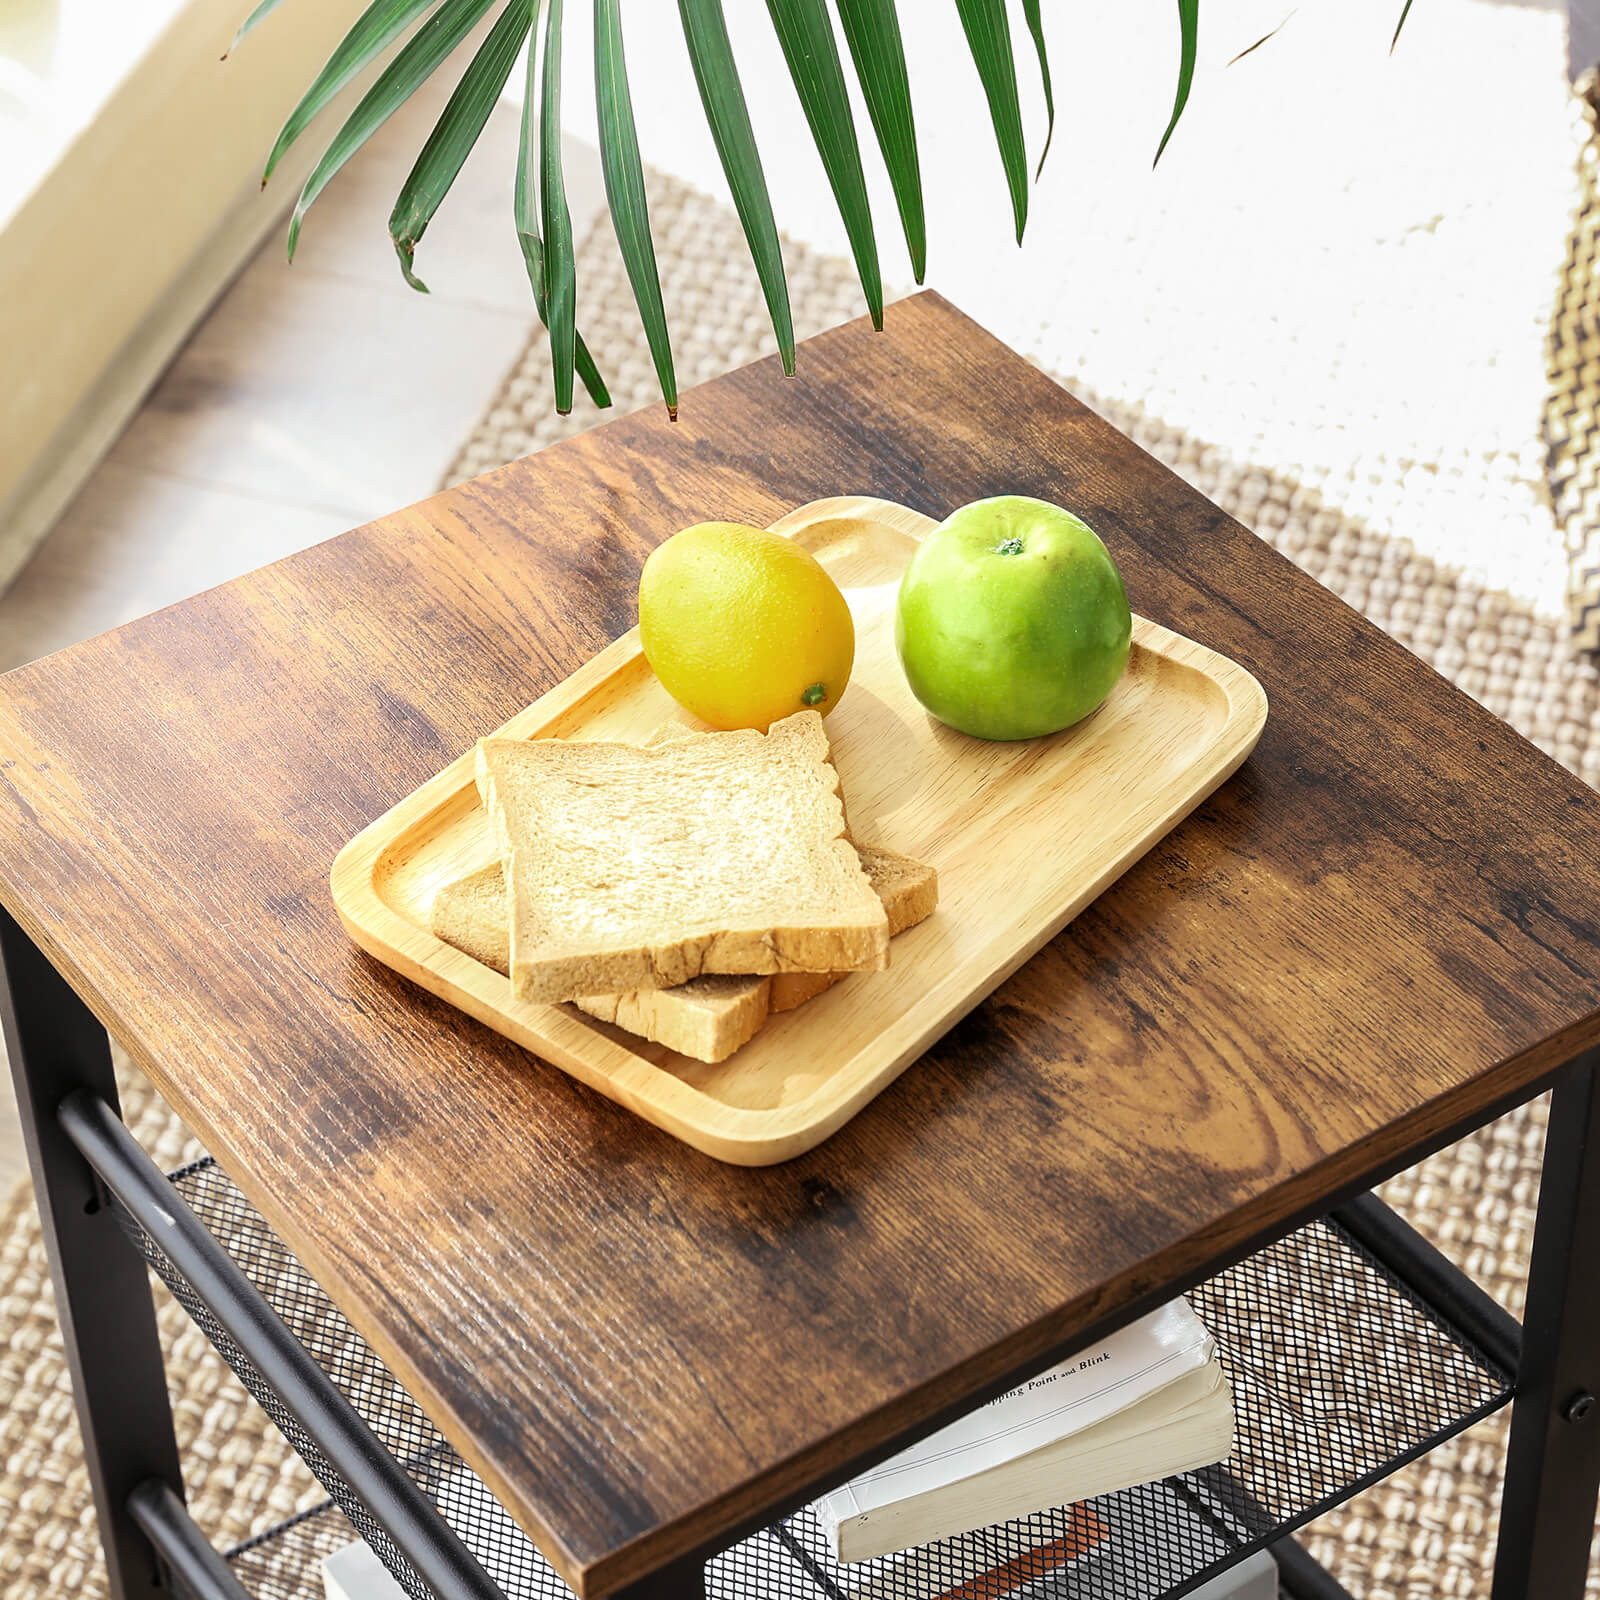
[[[32,142],[0,186],[0,586],[280,221],[362,85],[266,195],[262,155],[362,5],[283,6],[229,53],[248,0],[162,0],[120,8],[99,56],[82,24],[35,51]]]

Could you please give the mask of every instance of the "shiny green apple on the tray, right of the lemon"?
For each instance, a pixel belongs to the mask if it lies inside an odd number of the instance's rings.
[[[1128,664],[1133,618],[1094,530],[1022,494],[973,501],[910,558],[894,645],[912,694],[979,739],[1086,717]]]

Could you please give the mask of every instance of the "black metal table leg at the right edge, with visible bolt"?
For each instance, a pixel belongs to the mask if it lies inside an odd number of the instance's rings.
[[[1550,1101],[1493,1600],[1579,1600],[1600,1488],[1600,1053]]]

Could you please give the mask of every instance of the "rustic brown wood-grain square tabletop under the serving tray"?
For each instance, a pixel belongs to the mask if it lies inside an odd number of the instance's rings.
[[[358,954],[357,829],[688,522],[1082,512],[1266,686],[1218,795],[866,1112],[718,1165]],[[1600,802],[933,294],[0,683],[0,898],[581,1594],[1600,1040]]]

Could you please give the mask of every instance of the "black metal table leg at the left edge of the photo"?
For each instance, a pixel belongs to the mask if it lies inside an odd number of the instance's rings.
[[[128,1510],[150,1480],[182,1493],[144,1261],[56,1123],[74,1090],[117,1106],[106,1030],[0,909],[0,1022],[77,1397],[112,1600],[171,1600]]]

